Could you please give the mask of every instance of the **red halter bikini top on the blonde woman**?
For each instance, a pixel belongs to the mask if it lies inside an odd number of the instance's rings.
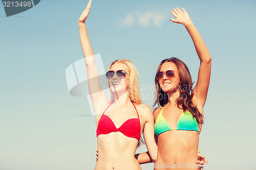
[[[110,103],[110,105],[106,109],[108,109],[112,104],[113,103]],[[104,115],[106,111],[105,109],[105,111],[103,112],[98,122],[98,127],[96,131],[97,137],[101,134],[109,134],[114,131],[119,131],[125,136],[134,137],[139,141],[140,140],[140,117],[135,105],[134,105],[134,108],[138,114],[138,118],[130,118],[126,120],[119,128],[116,128],[115,124],[113,123],[113,121],[109,116]]]

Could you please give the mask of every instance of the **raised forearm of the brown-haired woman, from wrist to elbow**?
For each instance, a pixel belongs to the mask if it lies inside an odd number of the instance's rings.
[[[193,40],[200,61],[204,63],[209,63],[211,61],[210,53],[202,37],[197,31],[194,23],[191,20],[189,20],[184,24],[184,26]]]

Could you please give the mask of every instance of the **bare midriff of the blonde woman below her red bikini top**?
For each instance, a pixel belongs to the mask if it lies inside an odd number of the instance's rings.
[[[98,141],[98,161],[95,170],[141,170],[134,157],[138,140],[115,131],[101,134]]]

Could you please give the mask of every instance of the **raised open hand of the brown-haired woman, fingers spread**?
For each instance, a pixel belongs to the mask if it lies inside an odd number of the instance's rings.
[[[174,9],[174,11],[170,12],[173,14],[173,16],[176,19],[170,19],[171,21],[175,22],[175,23],[181,23],[183,25],[186,25],[187,23],[191,22],[191,19],[188,15],[188,13],[185,11],[184,8],[181,8],[182,11],[179,8]]]

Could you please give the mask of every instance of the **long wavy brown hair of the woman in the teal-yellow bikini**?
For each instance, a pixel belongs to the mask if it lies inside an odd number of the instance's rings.
[[[197,122],[199,124],[203,124],[204,123],[203,115],[199,112],[197,106],[195,106],[192,103],[192,98],[194,95],[194,92],[193,92],[194,83],[192,82],[192,78],[186,64],[183,63],[181,60],[175,57],[172,57],[170,59],[165,59],[161,61],[158,66],[157,72],[160,71],[161,66],[163,65],[163,63],[166,63],[166,62],[173,62],[178,67],[178,72],[180,77],[180,85],[178,87],[179,88],[178,90],[180,92],[180,95],[176,99],[177,107],[179,109],[183,109],[183,111],[189,111],[197,119]],[[166,92],[164,92],[161,89],[159,82],[155,77],[155,102],[153,106],[156,106],[156,104],[158,104],[158,106],[164,106],[167,103],[168,103],[168,95]]]

